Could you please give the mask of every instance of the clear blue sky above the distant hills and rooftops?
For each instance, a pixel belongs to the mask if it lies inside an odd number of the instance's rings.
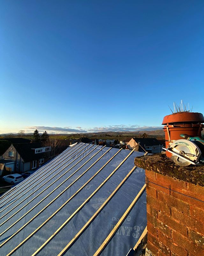
[[[1,1],[0,133],[152,129],[181,99],[203,113],[203,25],[203,0]]]

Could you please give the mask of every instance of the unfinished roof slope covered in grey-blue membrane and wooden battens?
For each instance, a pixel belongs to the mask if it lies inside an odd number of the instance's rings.
[[[126,255],[146,227],[141,155],[78,143],[42,166],[0,197],[0,255],[94,255],[134,203],[101,252]]]

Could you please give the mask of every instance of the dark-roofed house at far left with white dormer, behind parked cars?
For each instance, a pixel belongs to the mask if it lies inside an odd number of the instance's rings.
[[[51,147],[43,147],[40,142],[11,144],[2,159],[14,161],[12,172],[35,170],[49,160]]]

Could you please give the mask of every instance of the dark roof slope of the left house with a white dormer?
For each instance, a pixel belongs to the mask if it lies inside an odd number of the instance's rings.
[[[46,157],[47,152],[35,154],[34,148],[42,148],[41,142],[13,144],[24,162],[29,162]]]

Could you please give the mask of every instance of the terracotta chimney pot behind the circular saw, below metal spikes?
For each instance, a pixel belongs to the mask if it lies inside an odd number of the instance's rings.
[[[201,137],[201,131],[204,127],[203,122],[203,114],[197,112],[186,111],[164,116],[162,124],[164,124],[166,148],[170,142],[181,139],[180,134]],[[172,154],[166,152],[166,156],[171,157]]]

